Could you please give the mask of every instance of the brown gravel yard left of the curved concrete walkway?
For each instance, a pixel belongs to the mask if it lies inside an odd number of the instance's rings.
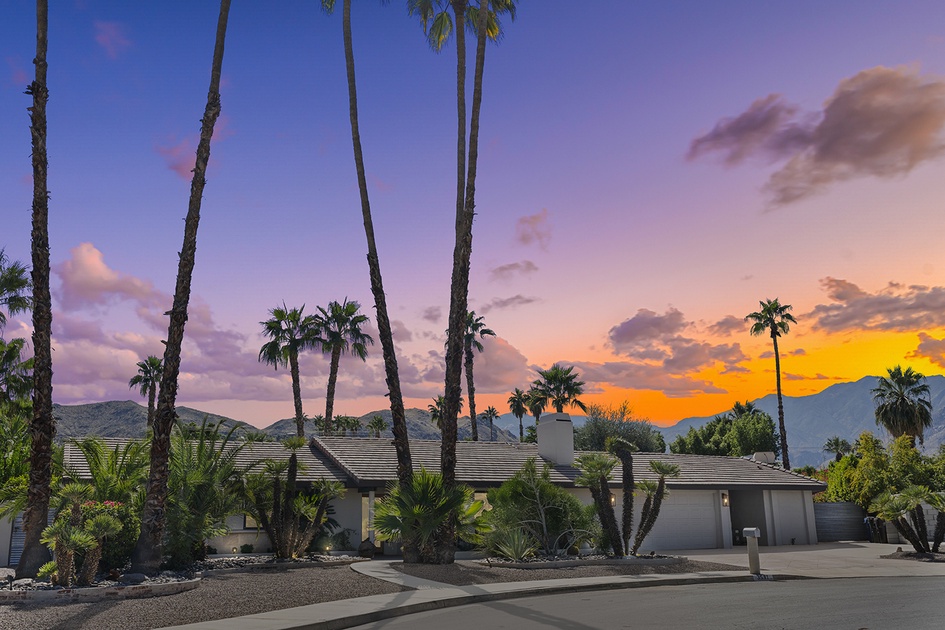
[[[3,630],[138,630],[292,608],[319,602],[398,593],[404,589],[348,566],[299,566],[272,572],[204,578],[192,591],[122,601],[76,604],[5,604]]]

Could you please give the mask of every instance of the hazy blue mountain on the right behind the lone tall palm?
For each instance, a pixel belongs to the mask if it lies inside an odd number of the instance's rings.
[[[852,383],[831,385],[819,394],[784,396],[784,425],[792,466],[821,465],[829,458],[823,452],[824,443],[835,435],[850,443],[863,431],[872,431],[880,438],[889,437],[876,426],[873,413],[870,390],[876,387],[876,380],[875,376],[864,376]],[[932,399],[932,427],[925,433],[925,450],[930,452],[945,443],[945,376],[930,376],[927,382]],[[771,414],[777,423],[776,394],[752,402]],[[722,409],[719,413],[726,411]],[[686,433],[690,427],[700,427],[714,417],[686,418],[673,426],[661,427],[660,431],[669,445],[677,435]]]

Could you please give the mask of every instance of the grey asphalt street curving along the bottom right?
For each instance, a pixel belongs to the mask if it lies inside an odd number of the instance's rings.
[[[694,584],[508,599],[417,613],[361,630],[945,628],[945,577]]]

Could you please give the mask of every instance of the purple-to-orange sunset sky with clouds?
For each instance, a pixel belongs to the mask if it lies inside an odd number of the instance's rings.
[[[50,3],[53,399],[145,400],[163,354],[218,5]],[[293,415],[257,360],[285,304],[358,301],[376,338],[340,11],[238,0],[223,61],[178,404]],[[665,425],[897,364],[945,374],[945,4],[521,2],[486,52],[470,308],[495,331],[477,408],[537,369]],[[620,28],[609,28],[619,26]],[[405,3],[355,2],[371,205],[408,407],[443,389],[455,213],[454,41]],[[472,47],[469,74],[472,75]],[[0,247],[30,259],[34,5],[0,5]],[[469,88],[471,94],[471,83]],[[471,101],[471,96],[470,96]],[[29,337],[28,316],[5,338]],[[328,361],[301,360],[309,416]],[[342,360],[335,413],[387,406],[379,343]]]

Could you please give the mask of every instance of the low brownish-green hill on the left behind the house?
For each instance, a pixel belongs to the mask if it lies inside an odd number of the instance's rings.
[[[190,407],[178,407],[177,416],[184,422],[200,424],[205,416],[211,422],[236,424],[254,430],[244,422]],[[148,408],[132,400],[113,400],[88,405],[53,405],[56,419],[56,440],[97,435],[99,437],[141,438],[148,427]]]

